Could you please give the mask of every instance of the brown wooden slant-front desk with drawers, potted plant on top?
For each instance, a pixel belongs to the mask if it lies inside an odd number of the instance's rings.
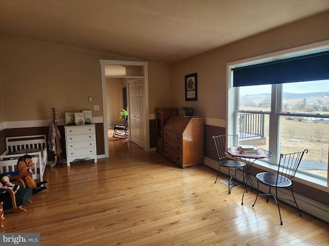
[[[165,125],[163,154],[179,167],[204,163],[204,118],[170,116]]]

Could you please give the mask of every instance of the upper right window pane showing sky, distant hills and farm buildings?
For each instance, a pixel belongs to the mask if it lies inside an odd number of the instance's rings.
[[[282,84],[282,112],[329,114],[329,80]]]

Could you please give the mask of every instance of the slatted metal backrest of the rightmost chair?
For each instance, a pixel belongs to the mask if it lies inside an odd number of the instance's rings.
[[[308,150],[289,154],[280,154],[278,174],[281,176],[278,175],[278,177],[280,177],[278,178],[277,182],[284,182],[285,178],[293,180],[303,155],[307,152]]]

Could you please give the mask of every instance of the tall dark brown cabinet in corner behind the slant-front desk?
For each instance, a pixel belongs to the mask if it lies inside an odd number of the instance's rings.
[[[177,108],[156,108],[156,151],[163,154],[163,128],[170,115],[178,115]]]

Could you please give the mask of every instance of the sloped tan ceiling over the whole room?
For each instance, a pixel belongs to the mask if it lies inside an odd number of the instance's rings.
[[[329,0],[0,0],[0,32],[174,63],[329,9]]]

